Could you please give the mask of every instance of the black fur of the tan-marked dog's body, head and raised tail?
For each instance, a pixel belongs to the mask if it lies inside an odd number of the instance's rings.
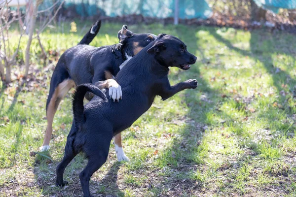
[[[101,21],[97,21],[79,44],[66,50],[59,59],[51,77],[46,111],[55,89],[64,80],[73,79],[75,85],[105,81],[105,71],[113,76],[118,73],[119,66],[126,60],[125,53],[128,56],[135,55],[134,43],[138,43],[137,47],[144,48],[156,38],[150,33],[132,33],[124,25],[118,32],[120,43],[102,47],[86,45],[99,32],[100,27]],[[91,33],[92,30],[96,30],[95,34]]]

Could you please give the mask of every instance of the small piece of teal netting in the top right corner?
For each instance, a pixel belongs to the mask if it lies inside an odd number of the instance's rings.
[[[296,9],[296,0],[254,0],[259,7],[278,13],[279,8]]]

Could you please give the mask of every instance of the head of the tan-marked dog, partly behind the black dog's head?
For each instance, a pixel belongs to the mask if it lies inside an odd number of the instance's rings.
[[[123,44],[123,48],[128,56],[135,56],[157,38],[157,36],[152,33],[132,33],[127,29],[126,25],[122,26],[117,36],[119,42]]]

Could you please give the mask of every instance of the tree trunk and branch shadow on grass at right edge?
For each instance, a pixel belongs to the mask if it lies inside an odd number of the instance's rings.
[[[273,101],[273,103],[281,103],[283,106],[279,106],[279,113],[283,112],[287,115],[287,117],[291,117],[293,113],[296,113],[296,110],[293,110],[293,106],[289,106],[289,99],[295,99],[296,97],[296,79],[295,76],[291,76],[291,74],[279,67],[274,66],[272,55],[288,55],[292,57],[293,64],[295,63],[295,55],[296,55],[296,48],[293,44],[285,44],[282,45],[281,42],[287,41],[281,39],[283,36],[282,33],[275,34],[275,33],[268,33],[264,31],[252,31],[251,32],[251,39],[250,39],[250,50],[246,51],[240,48],[237,48],[231,44],[231,42],[221,35],[219,35],[215,30],[210,31],[210,33],[220,42],[224,43],[229,49],[238,52],[244,56],[250,56],[253,59],[257,60],[260,64],[262,64],[267,71],[267,73],[272,78],[273,86],[276,88],[277,94],[279,97]],[[288,34],[289,35],[289,34]],[[286,35],[287,36],[287,35]],[[285,37],[286,38],[286,37]],[[290,38],[292,39],[292,38]],[[294,43],[296,40],[291,41]],[[277,43],[277,44],[274,44]],[[284,61],[284,60],[283,60]],[[293,65],[295,66],[295,65]],[[291,69],[293,69],[291,66]],[[264,83],[262,81],[262,83]],[[287,95],[289,92],[289,95]],[[270,104],[273,104],[270,103]],[[271,116],[272,110],[269,109],[268,111],[264,111],[264,114],[261,115],[262,118],[267,118],[268,123],[272,125],[274,121],[281,121],[276,120],[274,117]],[[290,122],[284,123],[284,127],[278,126],[274,128],[275,130],[283,130],[288,129],[290,127]],[[292,125],[290,131],[296,129],[295,126]],[[286,135],[286,132],[282,132],[282,135]],[[292,133],[290,133],[292,134]]]

